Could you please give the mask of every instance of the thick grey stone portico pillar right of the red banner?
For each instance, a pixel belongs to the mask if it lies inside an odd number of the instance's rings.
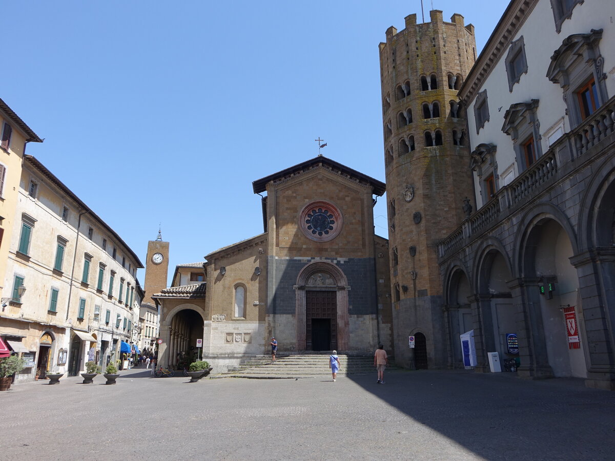
[[[577,270],[589,364],[587,387],[615,390],[615,248],[592,248],[570,258]],[[582,331],[582,330],[581,330]]]

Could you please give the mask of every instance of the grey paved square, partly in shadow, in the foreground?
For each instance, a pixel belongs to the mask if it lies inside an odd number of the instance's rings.
[[[615,392],[512,373],[81,377],[0,392],[2,460],[613,459]]]

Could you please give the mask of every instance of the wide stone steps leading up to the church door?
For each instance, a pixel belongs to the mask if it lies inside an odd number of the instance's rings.
[[[338,355],[338,376],[375,373],[373,355]],[[389,358],[391,362],[391,358]],[[391,362],[390,368],[396,368]],[[237,366],[212,378],[236,377],[247,379],[306,379],[331,377],[329,354],[279,355],[276,361],[270,357],[252,357]]]

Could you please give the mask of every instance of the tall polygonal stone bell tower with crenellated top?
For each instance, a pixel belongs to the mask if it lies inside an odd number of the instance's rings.
[[[379,45],[391,252],[395,360],[416,368],[448,365],[445,301],[436,245],[466,218],[474,197],[466,111],[457,93],[475,60],[474,26],[405,18]],[[472,199],[473,200],[473,199]],[[408,347],[415,336],[415,349]]]

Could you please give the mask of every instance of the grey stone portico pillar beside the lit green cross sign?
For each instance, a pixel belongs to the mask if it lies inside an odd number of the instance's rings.
[[[534,379],[553,377],[542,321],[542,307],[538,288],[540,279],[524,277],[506,283],[512,292],[513,304],[517,308],[515,320],[518,328],[517,339],[521,360],[517,372],[519,376]]]

